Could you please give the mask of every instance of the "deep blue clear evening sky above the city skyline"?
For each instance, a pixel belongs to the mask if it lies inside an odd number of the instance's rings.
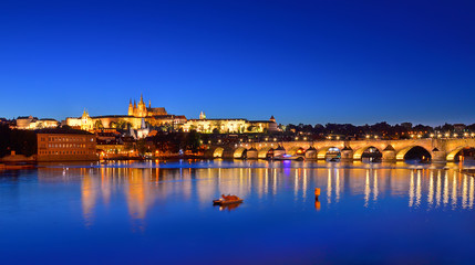
[[[100,3],[99,3],[100,2]],[[475,123],[475,1],[1,1],[0,117]]]

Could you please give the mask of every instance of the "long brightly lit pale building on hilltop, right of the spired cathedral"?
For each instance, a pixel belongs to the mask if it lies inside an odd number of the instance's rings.
[[[200,119],[189,119],[182,128],[184,131],[196,130],[203,134],[251,134],[251,132],[273,132],[278,131],[273,116],[269,120],[247,120],[236,119],[207,119],[205,114],[199,115]]]

